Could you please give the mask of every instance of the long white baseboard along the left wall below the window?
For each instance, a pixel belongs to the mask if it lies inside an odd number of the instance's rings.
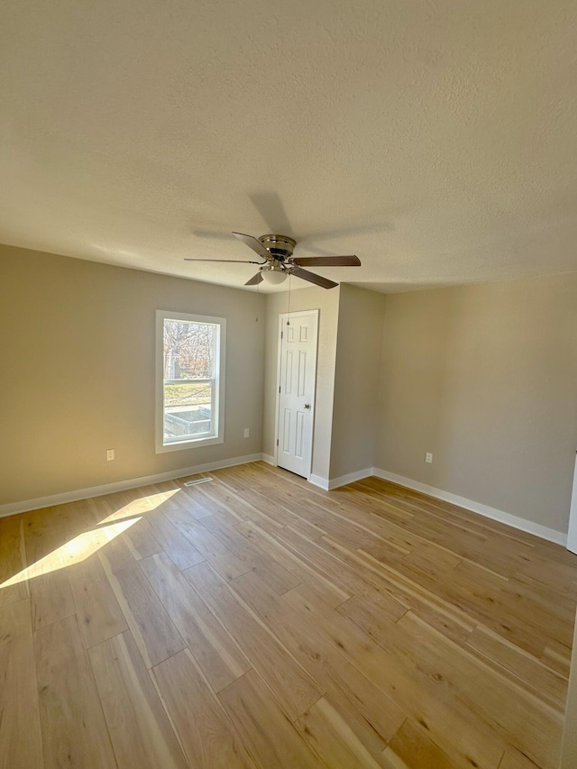
[[[141,478],[130,478],[126,481],[105,483],[103,486],[90,486],[87,489],[64,491],[61,494],[52,494],[50,497],[25,499],[23,502],[0,505],[0,517],[14,516],[16,513],[25,513],[28,510],[49,508],[52,505],[64,505],[66,502],[78,502],[78,499],[102,497],[104,494],[113,494],[114,491],[136,489],[139,486],[148,486],[151,483],[160,483],[160,481],[172,481],[174,478],[183,478],[186,475],[194,475],[197,472],[221,470],[224,467],[234,467],[236,464],[247,464],[248,462],[259,462],[262,459],[264,459],[264,456],[261,453],[247,454],[246,456],[236,456],[232,459],[220,460],[220,462],[206,462],[206,464],[197,464],[195,467],[182,467],[179,470],[159,472],[156,475],[143,475]]]

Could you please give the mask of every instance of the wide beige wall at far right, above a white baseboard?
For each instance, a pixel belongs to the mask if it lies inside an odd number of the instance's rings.
[[[389,296],[382,385],[376,467],[567,531],[577,273]]]

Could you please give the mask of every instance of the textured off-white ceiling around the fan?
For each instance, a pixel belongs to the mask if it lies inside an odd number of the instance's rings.
[[[252,259],[238,230],[377,290],[577,270],[574,0],[2,17],[0,242],[233,286],[255,268],[183,257]]]

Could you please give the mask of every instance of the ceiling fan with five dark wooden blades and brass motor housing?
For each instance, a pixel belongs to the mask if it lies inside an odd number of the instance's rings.
[[[252,235],[233,233],[252,251],[258,253],[263,261],[238,260],[238,259],[194,259],[185,258],[185,261],[226,261],[236,264],[259,264],[260,270],[247,280],[245,286],[257,286],[264,280],[267,283],[282,283],[288,275],[308,280],[322,288],[334,288],[338,286],[334,280],[323,278],[315,272],[303,270],[303,267],[360,267],[361,260],[358,256],[293,256],[292,252],[297,245],[288,235],[261,235],[255,238]]]

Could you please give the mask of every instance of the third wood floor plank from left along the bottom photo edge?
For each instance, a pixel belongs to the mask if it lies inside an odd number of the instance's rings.
[[[89,650],[119,769],[186,769],[188,763],[130,632]]]

